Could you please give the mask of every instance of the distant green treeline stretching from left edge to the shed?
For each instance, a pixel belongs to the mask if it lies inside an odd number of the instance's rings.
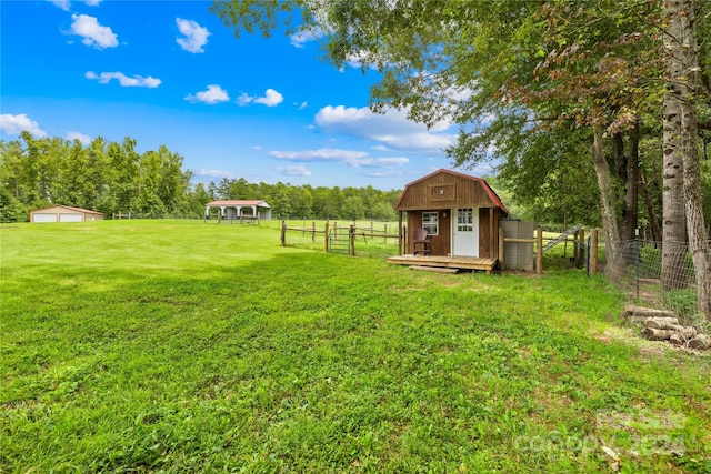
[[[79,140],[0,141],[0,222],[24,222],[32,209],[63,204],[102,212],[107,218],[193,216],[216,199],[259,199],[274,218],[392,220],[400,191],[368,188],[312,188],[277,182],[249,183],[223,179],[192,184],[183,157],[161,145],[139,153],[137,142],[102,138],[84,145]]]

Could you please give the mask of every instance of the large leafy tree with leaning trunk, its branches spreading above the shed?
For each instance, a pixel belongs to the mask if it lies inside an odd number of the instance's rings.
[[[619,241],[637,224],[639,110],[650,92],[645,79],[660,67],[650,48],[653,4],[247,0],[212,10],[238,37],[269,34],[282,12],[298,11],[302,23],[289,23],[289,32],[320,34],[338,67],[358,59],[382,73],[372,88],[375,111],[395,107],[428,125],[459,123],[459,143],[448,151],[460,165],[491,160],[492,145],[501,151],[512,133],[528,147],[554,127],[589,128],[608,256],[619,260]],[[509,151],[503,167],[520,158]]]

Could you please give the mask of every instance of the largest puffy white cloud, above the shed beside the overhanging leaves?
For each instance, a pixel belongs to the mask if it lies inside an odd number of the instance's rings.
[[[457,135],[447,133],[450,122],[442,121],[432,129],[408,119],[407,111],[388,109],[375,114],[368,108],[328,105],[316,115],[317,125],[327,133],[340,133],[379,142],[374,147],[414,152],[438,152],[452,145]]]

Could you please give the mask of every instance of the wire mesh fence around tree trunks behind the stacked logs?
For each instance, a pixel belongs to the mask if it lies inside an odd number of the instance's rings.
[[[622,242],[620,265],[605,273],[635,304],[670,310],[680,316],[697,313],[693,262],[687,243]],[[662,263],[665,262],[665,263]],[[662,270],[662,266],[667,269]]]

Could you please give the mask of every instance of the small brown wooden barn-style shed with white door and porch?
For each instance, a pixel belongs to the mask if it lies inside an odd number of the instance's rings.
[[[499,258],[499,220],[509,211],[481,178],[438,170],[404,186],[395,204],[404,244],[390,263],[491,271]],[[403,214],[407,223],[403,228]],[[417,254],[413,232],[427,229],[429,250]]]

